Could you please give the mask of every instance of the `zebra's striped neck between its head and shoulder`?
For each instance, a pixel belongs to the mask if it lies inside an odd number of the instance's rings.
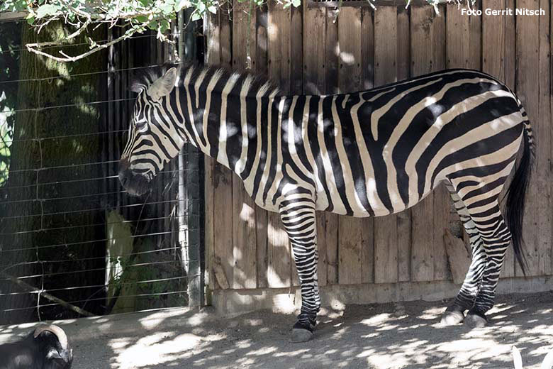
[[[252,75],[189,68],[174,89],[174,103],[187,140],[245,179],[265,155],[258,148],[277,92]]]

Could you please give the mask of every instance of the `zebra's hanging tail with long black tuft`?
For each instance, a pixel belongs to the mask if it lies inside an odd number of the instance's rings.
[[[510,182],[507,191],[507,204],[505,205],[505,218],[509,227],[510,234],[513,239],[513,250],[515,257],[526,275],[526,258],[523,253],[523,217],[524,203],[530,176],[532,174],[532,166],[535,159],[535,143],[532,137],[532,127],[527,115],[521,106],[521,112],[525,117],[523,129],[523,157],[520,158],[520,163],[515,171],[513,181]]]

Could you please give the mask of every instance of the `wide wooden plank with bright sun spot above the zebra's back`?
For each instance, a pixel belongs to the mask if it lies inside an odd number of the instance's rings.
[[[340,92],[354,92],[362,88],[363,70],[361,40],[361,9],[344,7],[338,21],[338,45],[340,64],[338,67],[338,88]],[[344,21],[345,20],[345,21]],[[362,282],[361,248],[362,219],[338,216],[338,281],[352,285]]]

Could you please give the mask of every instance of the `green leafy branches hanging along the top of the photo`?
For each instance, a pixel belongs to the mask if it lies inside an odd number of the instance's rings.
[[[96,51],[108,48],[114,43],[130,38],[135,33],[143,33],[147,29],[157,32],[157,37],[163,41],[169,41],[167,31],[170,28],[170,21],[174,20],[176,13],[183,9],[191,9],[191,21],[197,21],[206,13],[216,13],[218,9],[230,6],[225,4],[230,0],[4,0],[0,2],[2,11],[25,11],[27,21],[35,26],[37,32],[55,20],[62,20],[74,27],[72,34],[65,35],[60,40],[51,40],[44,43],[29,43],[27,48],[33,53],[51,57],[61,62],[73,62],[95,53]],[[238,0],[250,3],[250,11],[254,6],[261,6],[269,0]],[[273,0],[287,8],[289,6],[301,6],[301,0]],[[304,0],[306,1],[306,0]],[[342,0],[339,0],[340,4]],[[367,0],[372,4],[374,0]],[[426,0],[428,4],[435,7],[443,0]],[[459,2],[462,0],[447,0]],[[467,0],[469,1],[469,0]],[[474,0],[472,0],[474,1]],[[409,6],[410,0],[406,0]],[[251,16],[251,13],[250,13]],[[107,23],[109,26],[122,26],[125,33],[121,37],[110,41],[93,40],[88,37],[90,50],[80,55],[69,56],[63,52],[60,55],[45,53],[44,48],[52,45],[64,45],[74,41],[82,34],[89,33],[91,29]]]

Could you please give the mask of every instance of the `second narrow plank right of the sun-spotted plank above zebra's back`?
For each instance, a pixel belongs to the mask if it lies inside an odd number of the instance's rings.
[[[404,6],[398,6],[398,79],[410,76],[410,21]],[[397,215],[398,281],[410,280],[411,265],[411,210]]]

